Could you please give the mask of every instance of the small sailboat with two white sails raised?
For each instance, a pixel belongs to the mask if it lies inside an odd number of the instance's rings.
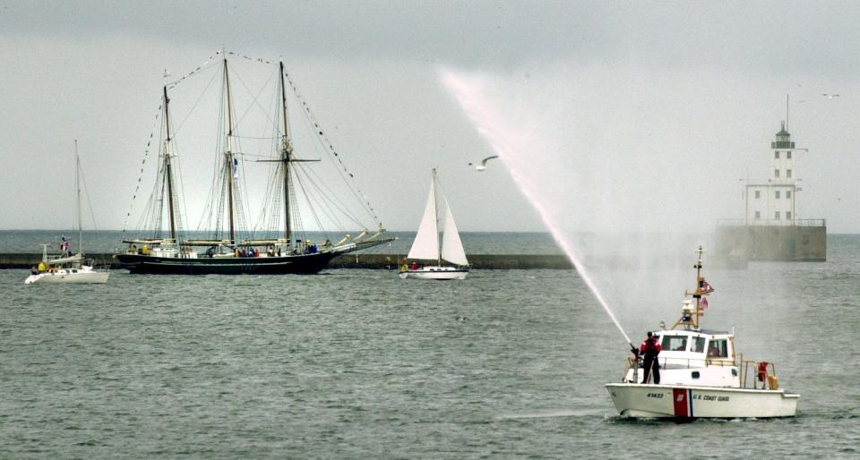
[[[412,260],[411,264],[404,265],[400,270],[400,278],[416,279],[463,279],[469,275],[469,260],[466,259],[466,251],[460,241],[460,232],[454,223],[454,216],[448,199],[442,195],[445,204],[445,217],[443,226],[442,244],[439,244],[439,217],[438,201],[436,196],[435,168],[430,182],[430,195],[424,209],[424,217],[415,235],[412,248],[409,249],[407,258]],[[420,265],[417,260],[434,260],[436,265]],[[446,266],[442,261],[448,261],[454,266]]]

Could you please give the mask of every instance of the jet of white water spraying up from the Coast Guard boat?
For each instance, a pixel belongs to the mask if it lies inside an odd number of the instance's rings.
[[[618,319],[615,318],[615,314],[613,314],[612,310],[609,309],[609,304],[606,302],[606,299],[603,298],[603,295],[600,294],[598,286],[594,284],[594,281],[589,276],[588,270],[586,270],[582,265],[571,245],[562,238],[561,228],[556,225],[552,214],[543,206],[540,200],[538,200],[535,192],[531,187],[529,187],[529,182],[525,180],[525,178],[522,177],[516,169],[510,166],[510,162],[506,158],[510,158],[513,154],[513,150],[508,146],[507,142],[504,141],[502,133],[499,132],[493,124],[488,123],[486,121],[486,117],[480,115],[481,111],[477,108],[477,106],[480,105],[480,101],[475,94],[476,91],[472,89],[469,84],[460,80],[460,78],[452,72],[443,71],[442,76],[445,86],[452,90],[454,96],[460,102],[460,106],[462,106],[463,111],[466,112],[466,115],[468,115],[472,123],[475,124],[477,132],[479,132],[484,139],[489,142],[494,151],[499,154],[499,159],[501,159],[502,163],[507,166],[508,172],[511,174],[514,183],[517,184],[520,191],[526,196],[526,199],[529,200],[531,205],[538,211],[540,219],[544,222],[546,228],[549,229],[549,233],[553,235],[555,243],[558,243],[567,258],[571,260],[573,267],[576,268],[576,272],[580,275],[582,281],[589,287],[591,294],[594,294],[595,298],[600,303],[600,306],[603,307],[606,314],[608,314],[609,318],[612,319],[612,322],[615,323],[615,327],[618,328],[621,335],[624,336],[624,340],[626,340],[627,343],[635,350],[632,340],[627,336],[627,333],[624,332],[624,328],[621,327],[621,323],[619,323]]]

